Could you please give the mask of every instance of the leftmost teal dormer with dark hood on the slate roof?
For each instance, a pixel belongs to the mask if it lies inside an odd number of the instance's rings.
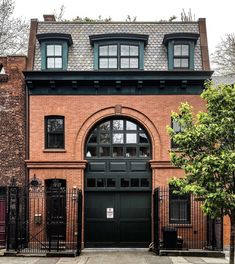
[[[72,45],[69,34],[38,34],[41,46],[42,70],[66,70],[68,65],[68,48]]]

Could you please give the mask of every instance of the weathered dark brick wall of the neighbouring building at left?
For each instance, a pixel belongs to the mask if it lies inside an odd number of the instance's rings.
[[[0,185],[25,180],[25,56],[0,57],[6,78],[0,75]]]

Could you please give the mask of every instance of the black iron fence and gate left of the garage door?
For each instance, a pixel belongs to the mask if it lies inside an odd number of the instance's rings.
[[[81,252],[82,192],[76,188],[8,189],[7,250]]]

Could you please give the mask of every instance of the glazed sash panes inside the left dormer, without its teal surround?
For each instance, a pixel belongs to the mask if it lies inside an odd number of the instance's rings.
[[[46,46],[46,67],[47,69],[62,69],[62,45]]]

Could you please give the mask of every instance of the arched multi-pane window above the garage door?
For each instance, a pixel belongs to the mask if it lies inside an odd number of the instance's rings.
[[[86,144],[86,158],[149,158],[150,142],[136,123],[108,120],[92,130]]]

